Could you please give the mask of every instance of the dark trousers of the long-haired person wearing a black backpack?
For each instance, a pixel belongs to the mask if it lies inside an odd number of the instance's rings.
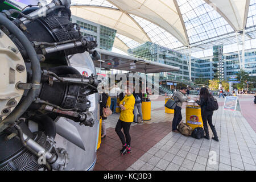
[[[202,119],[203,119],[205,136],[209,137],[209,129],[208,129],[208,125],[207,125],[207,122],[208,122],[210,129],[212,130],[213,136],[215,138],[218,138],[216,129],[212,124],[213,111],[204,111],[201,113],[201,115],[202,115]]]

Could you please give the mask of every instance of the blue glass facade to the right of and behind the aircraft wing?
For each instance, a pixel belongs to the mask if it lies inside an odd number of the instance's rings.
[[[218,66],[220,65],[220,58],[222,61],[221,68],[223,79],[228,80],[229,77],[236,76],[236,73],[240,70],[237,52],[220,54],[219,48],[223,48],[223,46],[214,46],[213,56],[205,57],[204,59],[191,57],[192,81],[195,81],[196,79],[210,80],[213,79],[214,76],[218,77],[217,72],[220,68]],[[133,57],[157,61],[159,63],[180,68],[179,71],[160,73],[160,80],[189,80],[189,57],[186,54],[159,46],[158,44],[151,42],[146,42],[141,46],[128,49],[128,53]],[[245,52],[245,71],[248,72],[250,76],[256,76],[256,51],[254,49],[246,50]]]

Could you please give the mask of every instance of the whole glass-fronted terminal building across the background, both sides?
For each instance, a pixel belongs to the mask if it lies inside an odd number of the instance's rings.
[[[159,44],[146,42],[139,44],[126,36],[117,34],[117,30],[102,26],[101,24],[90,22],[89,20],[79,18],[72,15],[72,22],[77,23],[81,27],[82,35],[93,36],[96,38],[98,48],[106,51],[112,51],[113,47],[121,49],[120,42],[130,44],[132,48],[127,48],[127,54],[139,59],[156,61],[158,63],[168,64],[179,67],[179,71],[159,73],[159,81],[163,85],[168,82],[174,82],[170,88],[176,88],[177,83],[191,85],[197,80],[207,81],[217,77],[218,61],[220,59],[218,49],[221,48],[222,75],[223,80],[229,80],[230,77],[236,77],[236,73],[240,70],[240,61],[242,59],[242,51],[240,51],[240,59],[238,52],[223,53],[223,45],[215,45],[212,47],[212,55],[207,57],[189,56],[185,51],[176,51]],[[123,48],[122,48],[123,49]],[[191,73],[189,70],[189,59],[191,60]],[[256,48],[245,50],[245,66],[244,69],[250,76],[256,76]],[[101,73],[110,73],[110,71],[100,71]],[[122,71],[114,71],[114,73],[121,73]],[[113,71],[112,71],[113,73]],[[190,76],[191,75],[191,76]],[[169,86],[166,86],[168,88]]]

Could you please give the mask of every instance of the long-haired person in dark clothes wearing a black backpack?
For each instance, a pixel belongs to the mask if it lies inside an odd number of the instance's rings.
[[[212,124],[213,111],[207,110],[207,107],[206,107],[207,101],[210,99],[210,97],[213,97],[213,96],[209,93],[209,90],[205,87],[202,87],[201,91],[200,91],[200,100],[199,101],[195,100],[195,101],[198,105],[201,106],[201,115],[202,115],[202,119],[203,119],[204,132],[205,132],[204,138],[206,138],[208,140],[210,139],[208,125],[207,125],[207,122],[208,122],[210,129],[212,130],[212,133],[214,136],[212,139],[214,139],[218,142],[217,132],[216,132],[215,127]]]

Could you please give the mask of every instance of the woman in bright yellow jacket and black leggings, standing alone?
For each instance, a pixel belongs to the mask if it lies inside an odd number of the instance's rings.
[[[117,133],[123,145],[122,150],[120,150],[122,155],[131,152],[130,126],[133,122],[133,109],[135,104],[135,98],[131,90],[132,89],[129,88],[126,89],[126,96],[119,103],[119,107],[121,108],[121,114],[118,119],[117,125],[115,126],[115,132]],[[125,136],[123,135],[121,129],[123,129],[123,133],[125,133]]]

